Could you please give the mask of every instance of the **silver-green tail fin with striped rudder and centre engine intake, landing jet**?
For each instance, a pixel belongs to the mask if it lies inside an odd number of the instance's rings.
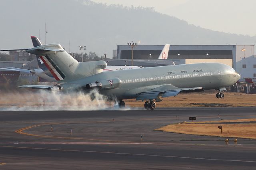
[[[102,72],[106,61],[89,61],[79,63],[60,44],[40,45],[27,50],[28,53],[40,55],[42,61],[58,81],[73,81]]]

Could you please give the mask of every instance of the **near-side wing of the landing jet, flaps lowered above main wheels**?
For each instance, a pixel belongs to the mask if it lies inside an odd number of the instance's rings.
[[[171,84],[161,85],[149,91],[142,92],[138,95],[136,100],[153,100],[157,97],[170,97],[176,96],[179,93],[191,93],[204,91],[202,87],[192,87],[192,88],[178,88]]]

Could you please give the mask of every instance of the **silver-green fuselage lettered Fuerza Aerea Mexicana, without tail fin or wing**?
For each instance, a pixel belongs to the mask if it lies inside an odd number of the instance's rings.
[[[87,83],[118,78],[121,85],[114,89],[101,90],[100,93],[118,100],[133,99],[140,93],[154,89],[159,85],[171,84],[178,88],[203,87],[203,89],[219,89],[231,86],[240,78],[236,71],[221,63],[196,63],[147,67],[120,71],[102,72],[89,77],[64,83],[63,89],[79,88]]]

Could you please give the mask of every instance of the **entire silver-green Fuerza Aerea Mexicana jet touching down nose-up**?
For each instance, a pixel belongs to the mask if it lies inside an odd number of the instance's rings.
[[[18,88],[47,89],[50,91],[85,91],[98,89],[109,100],[125,107],[124,99],[146,101],[144,108],[154,110],[160,97],[179,93],[218,90],[217,98],[224,98],[222,91],[240,79],[230,66],[222,63],[195,63],[106,71],[105,61],[78,62],[60,44],[40,45],[23,49],[42,56],[41,59],[58,80],[57,85],[22,85]],[[9,51],[9,50],[3,50]]]

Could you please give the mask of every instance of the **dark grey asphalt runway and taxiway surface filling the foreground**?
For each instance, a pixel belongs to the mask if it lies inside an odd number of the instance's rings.
[[[0,169],[256,168],[256,140],[154,130],[189,117],[256,118],[256,107],[2,111]]]

